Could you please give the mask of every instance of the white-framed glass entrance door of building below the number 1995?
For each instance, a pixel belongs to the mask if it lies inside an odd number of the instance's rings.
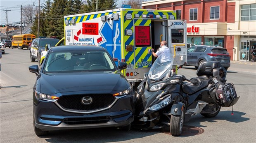
[[[239,60],[249,61],[250,48],[247,40],[241,40],[239,49]]]

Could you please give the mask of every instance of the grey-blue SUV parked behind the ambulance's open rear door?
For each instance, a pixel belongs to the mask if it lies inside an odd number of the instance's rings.
[[[204,61],[218,61],[228,69],[230,67],[230,55],[227,49],[219,46],[196,45],[187,49],[187,64],[196,69]]]

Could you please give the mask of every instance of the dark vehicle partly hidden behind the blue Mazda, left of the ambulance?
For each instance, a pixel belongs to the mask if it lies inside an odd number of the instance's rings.
[[[30,60],[34,62],[36,59],[38,60],[38,64],[40,64],[41,53],[45,51],[45,46],[50,44],[54,46],[59,42],[59,39],[56,38],[36,38],[33,39],[32,44],[30,46]]]

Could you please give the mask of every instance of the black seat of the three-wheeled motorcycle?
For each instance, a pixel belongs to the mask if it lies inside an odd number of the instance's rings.
[[[207,87],[210,80],[211,78],[209,78],[208,76],[198,76],[192,78],[190,82],[182,85],[183,92],[188,95],[192,95],[194,92],[197,92],[198,90]]]

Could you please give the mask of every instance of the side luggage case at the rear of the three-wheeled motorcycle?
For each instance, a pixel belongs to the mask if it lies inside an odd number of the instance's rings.
[[[222,88],[216,90],[216,98],[220,102],[220,106],[223,107],[235,105],[239,99],[233,83],[227,83]]]

